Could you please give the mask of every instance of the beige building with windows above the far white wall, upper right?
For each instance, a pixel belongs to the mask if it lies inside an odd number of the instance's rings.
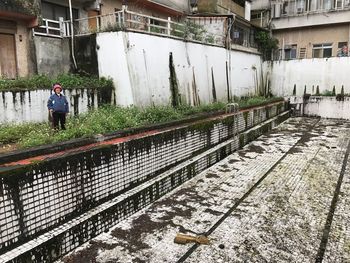
[[[349,0],[271,1],[275,59],[349,56]]]

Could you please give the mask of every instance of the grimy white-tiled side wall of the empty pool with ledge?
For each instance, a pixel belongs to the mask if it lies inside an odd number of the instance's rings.
[[[268,131],[284,110],[279,102],[1,165],[1,257],[57,259]]]

